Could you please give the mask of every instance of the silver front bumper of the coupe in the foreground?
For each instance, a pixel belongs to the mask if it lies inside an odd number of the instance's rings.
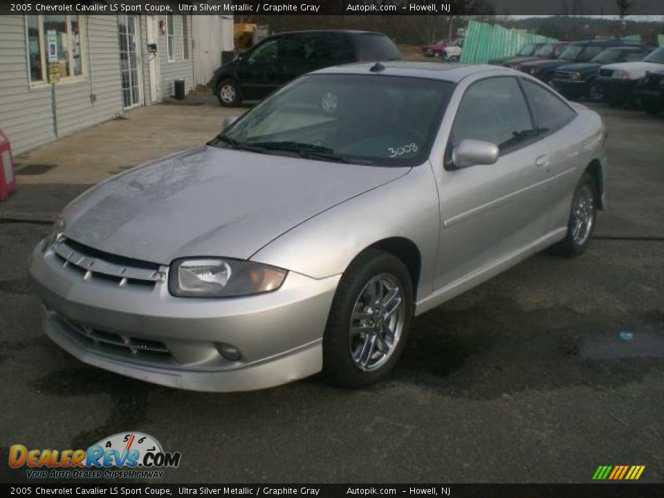
[[[164,270],[167,270],[164,268]],[[278,291],[225,299],[170,295],[166,282],[119,286],[84,277],[41,243],[30,277],[44,331],[79,360],[118,374],[197,391],[247,391],[322,369],[322,336],[340,275],[290,272]],[[102,277],[102,275],[100,275]],[[224,358],[220,344],[241,353]]]

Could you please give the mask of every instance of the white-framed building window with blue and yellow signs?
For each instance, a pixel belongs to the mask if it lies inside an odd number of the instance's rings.
[[[82,16],[26,16],[30,83],[84,75],[82,28]]]

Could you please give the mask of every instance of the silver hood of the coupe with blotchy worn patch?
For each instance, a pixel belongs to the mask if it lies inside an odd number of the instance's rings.
[[[93,187],[64,211],[64,235],[115,255],[248,259],[306,219],[409,172],[201,147]]]

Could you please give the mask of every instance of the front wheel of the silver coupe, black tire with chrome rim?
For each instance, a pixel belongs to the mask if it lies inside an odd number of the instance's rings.
[[[390,292],[400,297],[396,306],[394,300],[388,302]],[[376,295],[388,306],[376,307]],[[405,264],[382,250],[362,252],[344,273],[332,302],[323,337],[327,378],[340,387],[354,388],[385,378],[403,352],[414,308],[412,279]]]

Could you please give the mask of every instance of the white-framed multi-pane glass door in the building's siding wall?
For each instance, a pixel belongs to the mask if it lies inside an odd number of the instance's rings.
[[[131,109],[140,104],[140,44],[138,16],[118,15],[120,37],[120,76],[122,77],[122,106]]]

